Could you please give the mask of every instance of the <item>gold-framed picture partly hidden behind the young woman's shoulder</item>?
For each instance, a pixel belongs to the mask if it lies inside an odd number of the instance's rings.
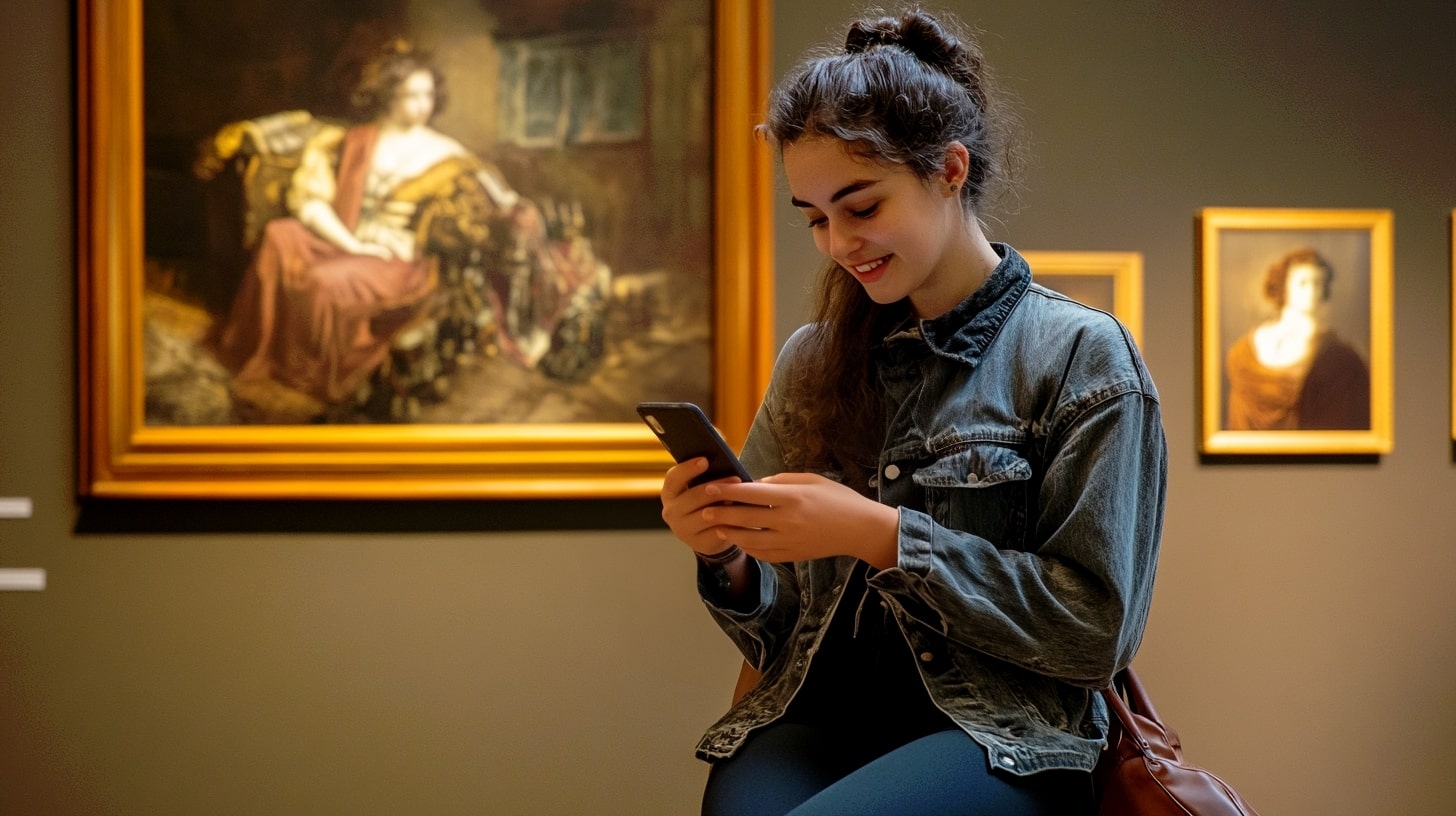
[[[1108,312],[1143,345],[1142,252],[1022,252],[1032,280],[1067,297]]]

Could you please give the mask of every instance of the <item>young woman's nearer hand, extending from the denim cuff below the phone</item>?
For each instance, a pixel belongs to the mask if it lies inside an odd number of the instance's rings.
[[[737,544],[748,555],[775,562],[853,555],[881,570],[898,561],[898,510],[824,476],[722,479],[700,491],[702,503],[696,509],[684,504],[683,511],[696,511],[702,520],[684,526],[699,527],[697,536],[716,536],[713,549]],[[719,504],[724,501],[728,504]]]

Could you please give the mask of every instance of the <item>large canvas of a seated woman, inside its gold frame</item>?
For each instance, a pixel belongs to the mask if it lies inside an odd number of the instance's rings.
[[[711,4],[248,7],[144,6],[149,425],[715,399]]]

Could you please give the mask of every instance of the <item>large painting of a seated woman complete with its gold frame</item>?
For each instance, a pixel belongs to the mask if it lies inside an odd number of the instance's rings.
[[[767,3],[83,0],[80,491],[649,495],[642,401],[740,444]]]

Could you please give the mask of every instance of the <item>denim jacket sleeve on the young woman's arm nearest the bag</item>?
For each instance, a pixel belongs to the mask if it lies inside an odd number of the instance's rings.
[[[1059,393],[1026,511],[1008,546],[901,507],[898,564],[871,578],[903,616],[962,647],[1099,688],[1131,662],[1152,600],[1168,455],[1156,391],[1131,341],[1079,344],[1131,354],[1130,374]],[[1038,433],[1037,430],[1032,431]]]

